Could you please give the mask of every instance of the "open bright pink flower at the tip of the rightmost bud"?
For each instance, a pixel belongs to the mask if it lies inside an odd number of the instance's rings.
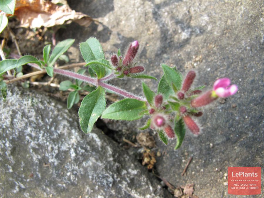
[[[238,90],[235,84],[231,84],[229,78],[220,78],[214,82],[213,90],[218,97],[225,98],[235,94]]]

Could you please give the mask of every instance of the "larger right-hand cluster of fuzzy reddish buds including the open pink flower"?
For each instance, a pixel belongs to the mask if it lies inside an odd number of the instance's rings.
[[[231,85],[228,78],[216,80],[213,89],[202,93],[200,89],[190,89],[196,73],[189,71],[182,83],[180,91],[176,92],[176,97],[172,97],[175,101],[172,103],[178,105],[178,111],[171,114],[171,111],[166,109],[167,102],[163,101],[163,96],[158,94],[154,98],[154,105],[150,106],[149,114],[151,118],[151,128],[162,130],[168,138],[175,138],[175,132],[172,129],[172,121],[174,116],[177,119],[182,118],[189,130],[198,135],[200,133],[199,125],[194,121],[194,117],[202,116],[202,111],[199,107],[207,105],[218,97],[228,97],[235,94],[238,90],[236,85]]]

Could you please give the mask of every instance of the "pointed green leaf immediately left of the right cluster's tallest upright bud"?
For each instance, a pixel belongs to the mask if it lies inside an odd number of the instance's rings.
[[[172,83],[175,85],[175,87],[180,90],[182,86],[182,75],[179,71],[167,66],[167,65],[161,65],[163,71],[164,71],[164,76],[167,80],[167,83],[171,88]]]

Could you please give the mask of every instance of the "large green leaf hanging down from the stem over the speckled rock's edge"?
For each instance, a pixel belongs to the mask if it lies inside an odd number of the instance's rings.
[[[102,114],[106,106],[105,92],[102,87],[88,94],[79,108],[80,126],[84,133],[92,131],[95,121]]]

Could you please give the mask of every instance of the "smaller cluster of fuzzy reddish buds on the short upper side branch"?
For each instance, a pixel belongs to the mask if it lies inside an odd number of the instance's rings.
[[[137,74],[144,71],[143,66],[134,66],[133,60],[138,52],[139,44],[138,41],[133,41],[126,52],[125,57],[117,57],[117,55],[111,56],[112,65],[115,67],[117,75],[130,75]]]

